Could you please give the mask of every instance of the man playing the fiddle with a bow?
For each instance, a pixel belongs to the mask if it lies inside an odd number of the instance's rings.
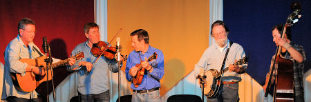
[[[77,71],[79,100],[82,102],[110,101],[109,70],[111,72],[118,71],[116,59],[100,56],[97,62],[93,63],[97,57],[93,56],[91,49],[94,43],[100,41],[99,28],[100,26],[96,23],[84,25],[84,35],[87,40],[77,45],[71,53],[74,55],[78,52],[84,52],[84,59],[77,61],[67,69],[68,71]],[[106,44],[109,45],[109,43]],[[122,60],[123,58],[120,57],[120,61]]]

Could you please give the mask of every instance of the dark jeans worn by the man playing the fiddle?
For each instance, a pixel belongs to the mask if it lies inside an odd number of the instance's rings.
[[[106,92],[102,92],[100,94],[80,94],[79,93],[79,101],[80,102],[109,102],[110,94],[109,90]]]

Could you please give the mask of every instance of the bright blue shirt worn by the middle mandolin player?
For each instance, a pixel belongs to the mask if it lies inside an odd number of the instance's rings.
[[[136,64],[140,64],[140,59],[144,61],[144,57],[147,59],[156,52],[158,54],[158,58],[156,61],[150,61],[149,64],[152,66],[153,70],[151,73],[147,71],[147,74],[144,74],[144,78],[142,79],[142,83],[138,86],[138,88],[134,87],[134,84],[131,83],[131,88],[133,90],[150,90],[152,88],[160,87],[160,79],[164,75],[164,55],[161,50],[153,48],[149,45],[147,52],[142,54],[142,52],[135,52],[133,50],[129,54],[129,59],[126,61],[126,79],[128,81],[132,81],[132,76],[129,74],[129,70],[135,66]]]

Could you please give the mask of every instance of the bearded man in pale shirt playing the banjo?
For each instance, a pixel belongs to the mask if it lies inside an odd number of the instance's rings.
[[[209,97],[207,101],[238,101],[238,82],[241,81],[240,74],[244,73],[247,64],[232,65],[235,61],[243,59],[245,52],[238,43],[229,43],[227,38],[229,29],[223,21],[215,21],[211,25],[211,37],[214,37],[216,44],[209,46],[195,65],[195,76],[202,75],[207,70],[220,70],[229,68],[220,77],[220,86],[215,96]],[[227,50],[229,52],[227,53]],[[224,60],[227,53],[227,58]],[[225,63],[223,63],[225,61]],[[224,64],[224,65],[223,65]],[[223,67],[223,68],[222,68]],[[209,76],[211,76],[209,74]],[[213,78],[209,78],[213,79]],[[210,87],[210,86],[205,86]],[[207,95],[207,94],[205,94]]]

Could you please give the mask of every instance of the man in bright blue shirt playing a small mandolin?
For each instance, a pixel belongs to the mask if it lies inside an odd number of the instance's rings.
[[[164,56],[162,51],[149,45],[149,35],[146,30],[139,29],[132,32],[131,42],[134,50],[129,54],[129,59],[126,61],[125,72],[126,79],[132,82],[132,101],[161,101],[159,91],[160,79],[164,75]],[[156,55],[158,57],[152,61],[151,59]],[[138,77],[142,78],[138,79],[141,83],[135,83],[137,81],[135,79]]]

